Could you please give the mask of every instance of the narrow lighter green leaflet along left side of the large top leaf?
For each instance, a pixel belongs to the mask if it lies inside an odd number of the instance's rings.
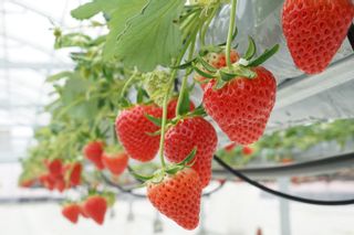
[[[110,33],[103,50],[103,58],[111,60],[117,55],[118,35],[123,33],[126,23],[133,17],[139,14],[148,0],[118,0],[115,10],[108,21]]]

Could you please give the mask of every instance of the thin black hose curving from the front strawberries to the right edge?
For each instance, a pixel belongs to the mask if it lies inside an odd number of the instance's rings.
[[[339,201],[321,201],[321,200],[304,199],[304,197],[300,197],[300,196],[294,196],[294,195],[290,195],[290,194],[287,194],[287,193],[282,193],[282,192],[269,189],[269,188],[264,186],[263,184],[260,184],[260,183],[249,179],[244,174],[240,173],[238,170],[235,170],[233,168],[231,168],[229,164],[227,164],[225,161],[222,161],[219,157],[214,156],[214,159],[225,170],[229,171],[233,175],[240,178],[241,180],[248,182],[249,184],[251,184],[251,185],[253,185],[253,186],[256,186],[256,188],[258,188],[260,190],[263,190],[263,191],[266,191],[266,192],[268,192],[270,194],[277,195],[279,197],[288,199],[288,200],[295,201],[295,202],[314,204],[314,205],[348,205],[348,204],[354,204],[354,199],[351,199],[351,200],[339,200]]]

